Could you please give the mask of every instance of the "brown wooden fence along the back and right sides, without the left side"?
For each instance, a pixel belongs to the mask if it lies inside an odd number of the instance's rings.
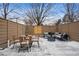
[[[69,34],[71,40],[79,41],[79,22],[60,24],[58,26],[43,26],[44,32],[66,32]],[[28,26],[27,32],[33,34],[33,27]]]

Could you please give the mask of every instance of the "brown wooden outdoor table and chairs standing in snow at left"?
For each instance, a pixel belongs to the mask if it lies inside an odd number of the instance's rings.
[[[27,50],[28,52],[31,51],[31,47],[34,42],[38,44],[39,47],[39,39],[34,40],[35,38],[32,37],[32,35],[21,35],[18,39],[13,36],[13,48],[16,43],[19,43],[19,49],[18,52],[20,51],[25,51]]]

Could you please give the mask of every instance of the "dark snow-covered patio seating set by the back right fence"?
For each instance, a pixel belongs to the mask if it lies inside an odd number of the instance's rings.
[[[70,36],[67,33],[60,33],[60,32],[47,32],[44,33],[44,38],[46,38],[48,41],[69,41]]]

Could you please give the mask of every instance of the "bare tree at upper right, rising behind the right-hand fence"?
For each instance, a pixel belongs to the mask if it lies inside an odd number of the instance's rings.
[[[64,4],[65,16],[63,22],[73,22],[75,20],[75,14],[77,13],[78,5],[75,3]]]

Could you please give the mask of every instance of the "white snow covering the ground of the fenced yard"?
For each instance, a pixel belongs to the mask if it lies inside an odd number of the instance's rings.
[[[50,42],[47,39],[40,38],[40,47],[34,43],[31,52],[20,51],[19,45],[12,49],[12,46],[0,50],[2,56],[79,56],[79,42],[75,41],[55,41]]]

